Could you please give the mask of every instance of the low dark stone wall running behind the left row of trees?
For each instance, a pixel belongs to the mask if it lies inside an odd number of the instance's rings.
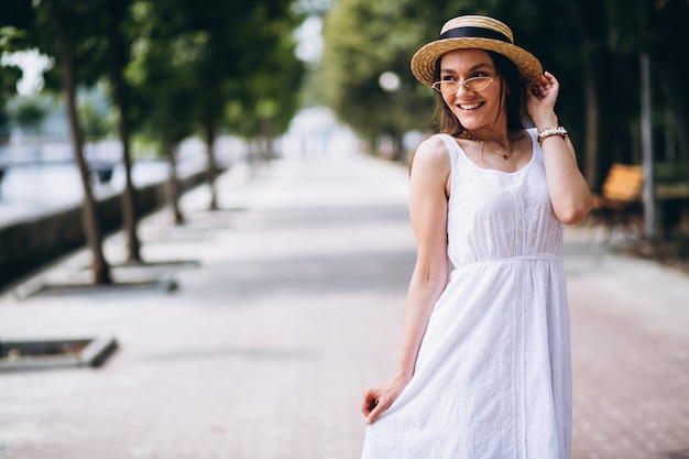
[[[205,171],[188,175],[179,181],[181,192],[194,188],[205,181]],[[167,182],[163,182],[136,189],[136,207],[141,216],[167,204]],[[84,247],[86,236],[81,209],[83,206],[79,205],[0,228],[0,287]],[[99,200],[97,212],[105,234],[120,230],[121,195]]]

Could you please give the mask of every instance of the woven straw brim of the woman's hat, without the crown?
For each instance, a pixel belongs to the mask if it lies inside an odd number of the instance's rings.
[[[412,73],[424,85],[433,86],[438,57],[455,50],[486,50],[500,53],[516,65],[525,85],[536,81],[543,75],[540,62],[526,50],[499,40],[480,37],[445,39],[428,43],[412,57]]]

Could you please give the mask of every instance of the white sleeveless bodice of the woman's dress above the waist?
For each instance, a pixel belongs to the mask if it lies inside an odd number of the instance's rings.
[[[543,150],[532,138],[532,160],[514,173],[479,167],[455,139],[438,134],[451,161],[448,255],[455,266],[562,255],[564,226],[550,204]]]

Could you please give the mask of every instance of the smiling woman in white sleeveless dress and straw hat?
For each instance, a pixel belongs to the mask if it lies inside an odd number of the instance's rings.
[[[397,371],[363,394],[364,459],[569,457],[564,223],[591,194],[557,79],[513,43],[500,21],[460,17],[412,59],[440,133],[414,157],[417,261]]]

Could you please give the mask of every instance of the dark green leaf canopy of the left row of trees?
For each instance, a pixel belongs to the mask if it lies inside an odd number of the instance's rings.
[[[119,89],[128,103],[122,114],[134,130],[168,142],[198,130],[276,135],[298,109],[304,75],[293,31],[305,12],[322,10],[326,3],[305,0],[293,8],[291,0],[3,0],[0,50],[37,47],[56,56],[46,8],[55,4],[66,22],[78,24],[66,28],[65,35],[79,86],[108,78],[114,102],[113,78],[123,73]],[[62,90],[62,66],[56,62],[46,72],[47,89]],[[1,75],[9,84],[0,80],[0,89],[13,87],[11,75]],[[242,107],[242,122],[225,118],[229,103]],[[81,114],[89,110],[83,103]],[[88,120],[98,119],[92,111]],[[83,127],[86,132],[103,129]]]

